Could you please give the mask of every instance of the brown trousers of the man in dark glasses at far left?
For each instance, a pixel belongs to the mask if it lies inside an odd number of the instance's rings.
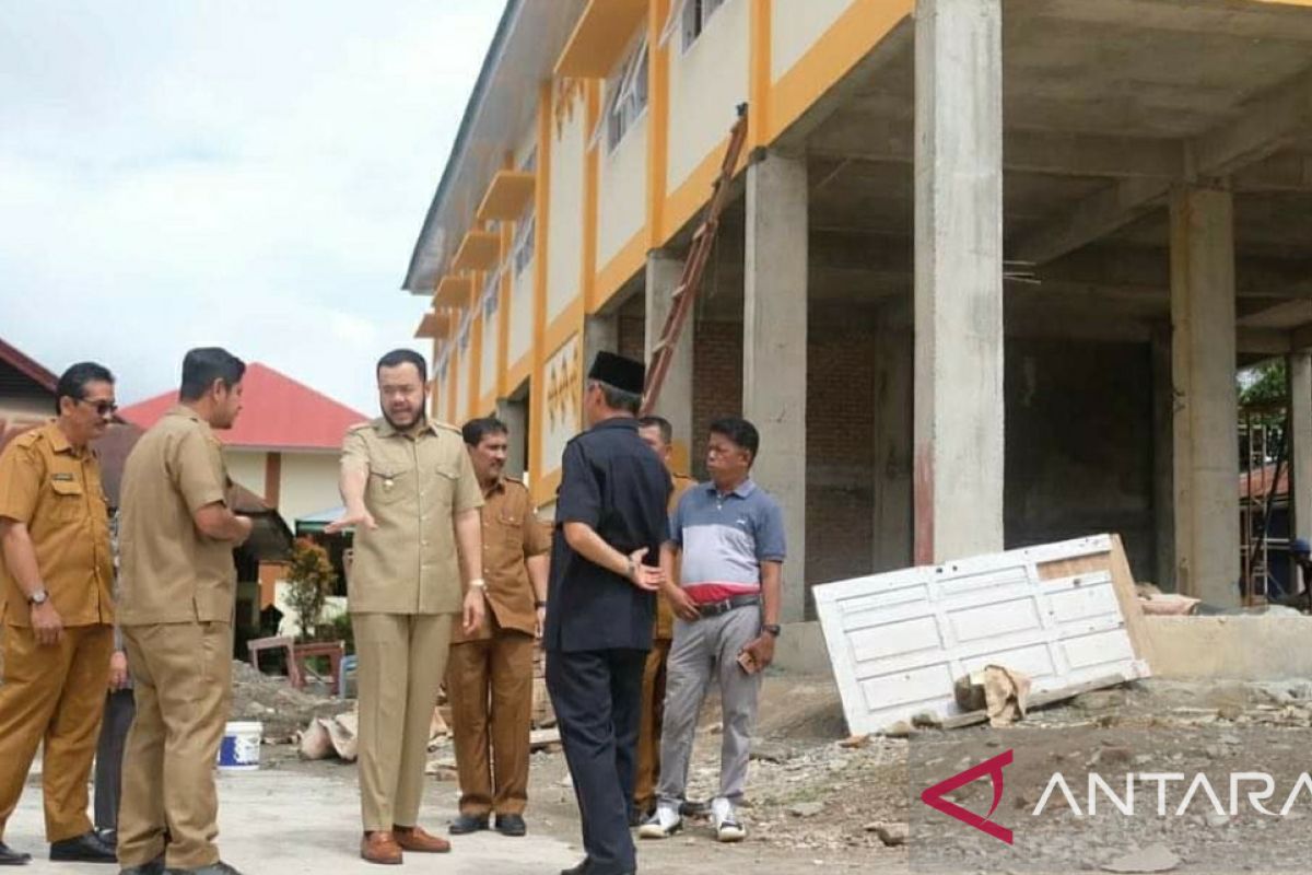
[[[59,644],[37,644],[31,630],[4,634],[0,685],[0,837],[18,805],[28,770],[45,740],[41,784],[46,838],[58,842],[91,832],[87,779],[96,754],[109,689],[112,626],[64,628]]]

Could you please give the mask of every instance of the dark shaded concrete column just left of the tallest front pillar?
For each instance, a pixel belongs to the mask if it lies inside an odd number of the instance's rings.
[[[911,307],[892,304],[875,335],[875,572],[912,564],[913,359]]]

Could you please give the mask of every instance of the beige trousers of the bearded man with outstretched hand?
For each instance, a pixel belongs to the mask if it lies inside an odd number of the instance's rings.
[[[415,826],[451,614],[352,614],[365,832]]]

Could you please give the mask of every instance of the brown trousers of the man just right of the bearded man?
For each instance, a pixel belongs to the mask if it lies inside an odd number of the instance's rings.
[[[522,815],[529,800],[533,636],[502,628],[489,639],[454,644],[446,666],[446,694],[451,701],[461,813]]]

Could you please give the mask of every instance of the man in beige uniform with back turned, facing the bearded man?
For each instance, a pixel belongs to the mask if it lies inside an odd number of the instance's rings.
[[[232,428],[244,374],[223,349],[189,352],[178,405],[123,468],[118,622],[136,695],[118,817],[126,875],[236,874],[214,844],[214,761],[232,694],[232,548],[251,519],[228,510],[211,429]]]

